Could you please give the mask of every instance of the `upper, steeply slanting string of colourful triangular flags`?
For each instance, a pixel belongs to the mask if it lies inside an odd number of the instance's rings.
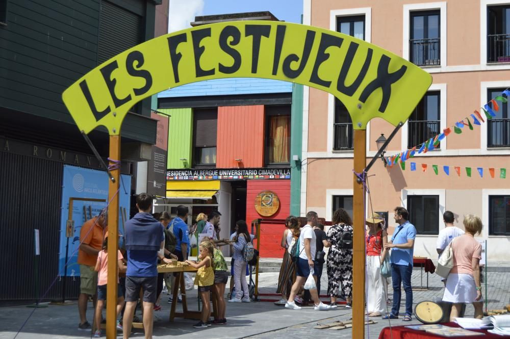
[[[447,127],[443,129],[443,132],[426,140],[425,142],[416,145],[410,149],[406,149],[405,151],[399,152],[397,154],[391,155],[390,157],[385,157],[387,164],[391,167],[393,165],[396,165],[397,162],[400,160],[400,162],[405,162],[406,160],[410,158],[414,158],[416,153],[426,153],[430,150],[435,149],[439,146],[439,143],[441,140],[446,138],[453,130],[454,134],[462,134],[462,129],[465,126],[468,126],[468,128],[472,131],[474,129],[473,124],[475,125],[481,125],[481,123],[485,122],[483,119],[483,116],[480,114],[479,111],[482,111],[487,118],[487,120],[492,119],[496,116],[496,112],[499,111],[499,102],[506,103],[508,101],[507,98],[505,98],[504,95],[507,97],[510,97],[510,90],[507,88],[504,91],[501,92],[500,95],[496,96],[494,99],[491,99],[486,104],[483,105],[483,107],[480,107],[479,110],[474,110],[473,114],[470,114],[469,116],[465,117],[464,119],[461,119],[453,126]],[[491,107],[492,105],[492,107]],[[471,124],[471,121],[469,119],[473,120],[473,124]],[[467,121],[467,122],[466,122]],[[481,121],[481,123],[480,123]]]

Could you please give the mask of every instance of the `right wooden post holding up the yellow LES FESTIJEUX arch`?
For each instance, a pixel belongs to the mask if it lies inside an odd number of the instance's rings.
[[[367,131],[354,129],[354,171],[367,165]],[[365,339],[365,191],[353,174],[352,339]]]

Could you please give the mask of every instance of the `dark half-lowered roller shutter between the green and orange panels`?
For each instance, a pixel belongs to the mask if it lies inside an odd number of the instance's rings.
[[[195,147],[216,147],[218,133],[217,109],[195,110],[193,114]]]

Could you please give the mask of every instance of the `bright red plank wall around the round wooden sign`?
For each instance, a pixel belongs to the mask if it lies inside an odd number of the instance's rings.
[[[280,208],[271,217],[262,217],[255,210],[255,198],[262,191],[273,191],[280,200]],[[250,225],[254,219],[285,219],[290,214],[290,180],[247,180],[246,222]],[[261,225],[260,256],[263,258],[281,258],[284,249],[280,247],[285,225]]]

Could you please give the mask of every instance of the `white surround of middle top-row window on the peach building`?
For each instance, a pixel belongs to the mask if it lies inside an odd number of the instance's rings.
[[[403,31],[402,31],[402,58],[409,61],[409,36],[411,27],[411,12],[427,11],[427,10],[440,10],[440,48],[441,48],[441,64],[440,66],[421,66],[427,72],[444,72],[446,70],[446,2],[438,3],[423,3],[423,4],[409,4],[403,6]]]

